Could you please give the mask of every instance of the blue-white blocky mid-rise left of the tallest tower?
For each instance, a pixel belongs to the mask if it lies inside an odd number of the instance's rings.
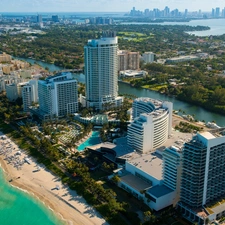
[[[38,81],[39,111],[43,118],[63,117],[78,111],[77,81],[60,73]]]

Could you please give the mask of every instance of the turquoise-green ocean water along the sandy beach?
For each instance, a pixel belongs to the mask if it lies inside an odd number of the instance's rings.
[[[63,225],[40,201],[7,183],[0,168],[1,225]]]

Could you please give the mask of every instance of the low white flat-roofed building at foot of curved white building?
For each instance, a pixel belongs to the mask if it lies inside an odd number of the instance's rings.
[[[163,185],[160,155],[155,152],[143,156],[135,155],[134,159],[126,161],[125,169],[125,172],[118,172],[119,187],[156,211],[173,205],[176,193]]]

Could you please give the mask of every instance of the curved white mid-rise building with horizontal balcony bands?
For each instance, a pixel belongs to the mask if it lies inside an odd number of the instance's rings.
[[[145,99],[146,100],[146,99]],[[128,145],[141,153],[152,151],[163,145],[172,129],[172,110],[171,102],[136,100],[133,115],[139,115],[128,126]],[[136,107],[136,108],[135,108]],[[150,113],[142,113],[144,110]]]

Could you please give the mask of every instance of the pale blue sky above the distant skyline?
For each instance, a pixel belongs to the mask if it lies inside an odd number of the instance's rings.
[[[132,7],[211,11],[225,0],[0,0],[0,12],[128,12]]]

